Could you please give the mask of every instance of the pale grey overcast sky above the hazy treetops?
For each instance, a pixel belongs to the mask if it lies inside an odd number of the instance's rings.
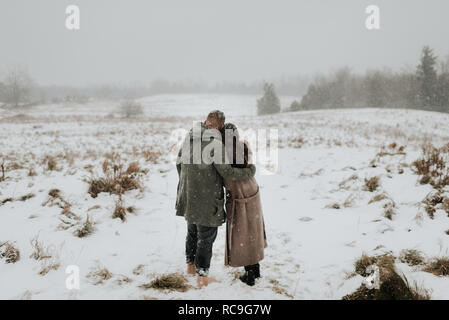
[[[81,29],[65,28],[65,8]],[[381,29],[365,28],[366,6]],[[0,0],[0,72],[42,84],[254,81],[449,54],[448,0]]]

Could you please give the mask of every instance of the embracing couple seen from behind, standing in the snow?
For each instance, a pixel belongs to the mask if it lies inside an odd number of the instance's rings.
[[[245,267],[240,280],[253,286],[260,277],[266,247],[265,225],[256,167],[236,126],[212,111],[194,125],[179,151],[176,215],[187,221],[187,273],[199,287],[216,282],[209,276],[218,227],[226,222],[225,265]],[[226,192],[225,192],[226,191]]]

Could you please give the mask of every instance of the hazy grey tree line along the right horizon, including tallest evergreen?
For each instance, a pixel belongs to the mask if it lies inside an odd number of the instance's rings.
[[[361,107],[449,112],[449,59],[439,61],[426,46],[414,72],[374,70],[355,75],[343,68],[317,78],[290,110]]]

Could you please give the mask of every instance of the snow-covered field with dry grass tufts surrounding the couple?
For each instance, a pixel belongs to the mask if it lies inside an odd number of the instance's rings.
[[[363,253],[449,255],[448,214],[437,210],[429,218],[422,201],[432,187],[419,184],[410,168],[423,144],[449,141],[449,115],[341,109],[257,117],[256,98],[154,96],[140,100],[145,115],[135,120],[119,118],[117,103],[107,102],[0,109],[0,243],[20,250],[16,263],[0,259],[0,299],[341,299],[363,281],[348,276]],[[282,98],[283,108],[292,100]],[[240,269],[223,265],[223,226],[211,266],[219,283],[185,292],[145,289],[160,275],[185,272],[186,223],[174,212],[170,134],[217,108],[242,129],[279,130],[277,173],[256,177],[269,245],[262,278],[250,288],[236,279]],[[106,159],[125,167],[137,161],[145,171],[142,188],[123,196],[134,209],[125,222],[112,218],[118,196],[88,193]],[[379,187],[365,190],[374,176]],[[54,189],[56,197],[49,195]],[[378,194],[385,198],[371,201]],[[391,220],[384,216],[389,203]],[[87,216],[93,232],[80,238]],[[32,257],[36,238],[47,251],[41,259]],[[66,289],[68,265],[80,268],[79,291]],[[396,267],[432,299],[449,299],[449,277],[400,261]]]

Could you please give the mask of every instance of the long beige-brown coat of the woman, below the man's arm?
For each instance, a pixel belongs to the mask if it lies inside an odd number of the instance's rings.
[[[225,265],[249,266],[264,258],[265,224],[256,179],[224,181],[226,187]]]

